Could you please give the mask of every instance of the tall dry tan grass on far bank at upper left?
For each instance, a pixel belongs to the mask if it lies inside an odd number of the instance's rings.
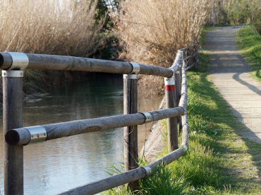
[[[0,51],[89,56],[99,47],[95,3],[0,1]]]

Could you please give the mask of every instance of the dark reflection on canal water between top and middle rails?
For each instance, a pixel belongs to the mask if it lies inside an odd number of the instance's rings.
[[[40,102],[25,102],[27,125],[121,114],[122,76],[93,74],[84,81],[55,89],[50,96]]]

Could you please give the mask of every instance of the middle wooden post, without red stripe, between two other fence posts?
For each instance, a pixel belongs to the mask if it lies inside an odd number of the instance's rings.
[[[137,113],[137,74],[124,74],[124,114]],[[137,126],[124,127],[124,166],[125,170],[138,168]],[[137,190],[139,182],[129,184]]]

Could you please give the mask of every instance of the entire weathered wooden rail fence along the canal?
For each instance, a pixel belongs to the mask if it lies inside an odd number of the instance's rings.
[[[62,194],[96,194],[129,183],[138,188],[137,181],[156,172],[159,165],[168,165],[188,150],[188,115],[186,71],[196,65],[196,45],[177,51],[173,65],[167,69],[136,62],[117,62],[71,56],[43,54],[0,53],[3,69],[3,133],[4,192],[23,194],[23,147],[27,144],[124,127],[124,164],[126,172],[87,183]],[[71,122],[23,127],[23,69],[71,70],[124,74],[124,115],[82,119]],[[162,76],[165,80],[166,109],[137,113],[137,75]],[[138,165],[137,125],[168,119],[169,154],[145,167]],[[182,130],[179,146],[178,130]]]

